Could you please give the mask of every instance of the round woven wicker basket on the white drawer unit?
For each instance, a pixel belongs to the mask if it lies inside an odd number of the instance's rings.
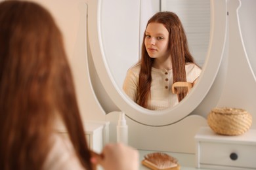
[[[252,116],[244,109],[214,108],[207,117],[208,125],[220,135],[242,135],[252,124]]]

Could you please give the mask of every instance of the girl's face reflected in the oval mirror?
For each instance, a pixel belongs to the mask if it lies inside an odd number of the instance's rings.
[[[146,27],[144,44],[150,58],[168,58],[169,32],[163,24],[152,22]]]

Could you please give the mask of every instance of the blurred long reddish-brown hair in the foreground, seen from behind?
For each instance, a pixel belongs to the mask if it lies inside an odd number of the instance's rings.
[[[42,169],[56,114],[92,169],[62,35],[36,3],[0,3],[0,169]]]

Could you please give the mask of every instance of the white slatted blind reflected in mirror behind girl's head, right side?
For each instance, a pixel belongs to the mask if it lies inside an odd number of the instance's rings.
[[[209,0],[160,0],[161,11],[175,12],[184,26],[190,52],[202,66],[208,50],[210,32]]]

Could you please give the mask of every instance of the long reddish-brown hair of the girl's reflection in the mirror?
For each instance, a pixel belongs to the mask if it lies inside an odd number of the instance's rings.
[[[174,12],[157,12],[148,20],[148,24],[156,22],[165,25],[169,32],[169,52],[173,68],[173,83],[186,82],[186,63],[194,63],[194,59],[188,49],[186,34],[182,27],[181,20]],[[138,104],[142,107],[147,107],[148,98],[150,97],[150,86],[152,82],[151,70],[154,62],[153,58],[148,56],[146,46],[144,45],[145,33],[142,43],[142,56],[139,61],[139,99]],[[178,99],[181,101],[186,96],[187,90],[182,89],[178,94]]]

